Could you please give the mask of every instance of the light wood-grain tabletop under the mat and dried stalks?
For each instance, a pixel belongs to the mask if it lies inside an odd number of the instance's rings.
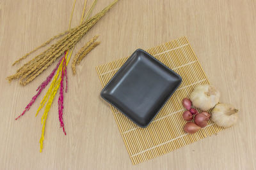
[[[111,1],[98,1],[93,13]],[[26,87],[5,78],[20,66],[12,66],[14,60],[68,28],[72,3],[0,1],[0,169],[256,169],[255,0],[120,0],[77,44],[75,53],[100,34],[100,45],[81,62],[76,76],[68,66],[67,136],[59,128],[54,99],[40,153],[42,125],[35,111],[43,95],[19,121],[15,117],[55,64]],[[73,27],[82,10],[83,0],[77,0]],[[209,80],[220,89],[221,101],[239,108],[239,122],[133,166],[111,110],[99,96],[102,87],[95,66],[181,36],[187,36]]]

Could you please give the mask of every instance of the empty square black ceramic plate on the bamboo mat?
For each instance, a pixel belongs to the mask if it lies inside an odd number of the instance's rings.
[[[179,74],[138,49],[118,70],[100,96],[140,127],[147,127],[179,87]]]

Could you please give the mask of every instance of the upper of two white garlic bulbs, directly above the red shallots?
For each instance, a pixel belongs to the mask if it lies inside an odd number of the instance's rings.
[[[197,85],[190,94],[189,99],[193,106],[207,111],[220,101],[220,92],[212,85]]]

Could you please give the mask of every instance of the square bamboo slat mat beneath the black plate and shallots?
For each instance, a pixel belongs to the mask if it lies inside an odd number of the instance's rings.
[[[147,128],[140,128],[111,106],[116,124],[133,164],[138,164],[223,130],[211,120],[195,134],[183,131],[186,121],[182,99],[198,84],[209,83],[186,37],[146,50],[182,77],[182,83]],[[129,57],[96,67],[104,87]]]

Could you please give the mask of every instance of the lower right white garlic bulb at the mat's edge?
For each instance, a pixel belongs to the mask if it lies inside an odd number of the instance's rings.
[[[230,104],[219,103],[212,110],[212,121],[222,127],[231,127],[237,122],[237,111]]]

